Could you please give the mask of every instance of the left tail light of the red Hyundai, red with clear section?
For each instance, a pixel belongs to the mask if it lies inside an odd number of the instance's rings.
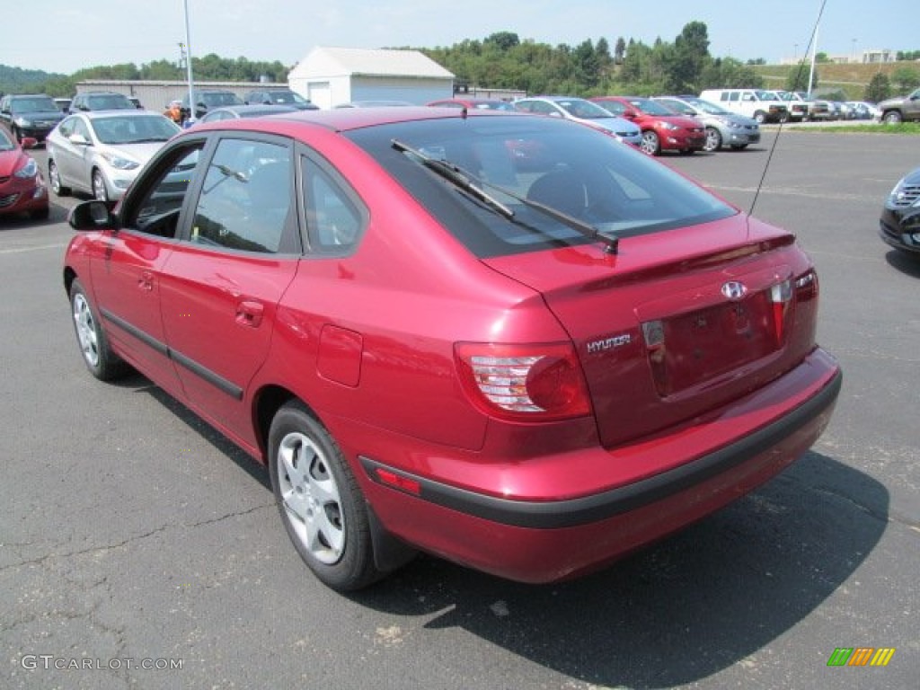
[[[570,342],[454,345],[466,395],[506,420],[549,421],[591,414],[588,386]]]

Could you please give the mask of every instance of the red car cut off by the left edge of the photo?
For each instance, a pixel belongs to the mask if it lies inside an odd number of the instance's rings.
[[[37,144],[31,137],[23,137],[19,144],[0,127],[0,215],[48,217],[48,188],[35,159],[23,151]]]

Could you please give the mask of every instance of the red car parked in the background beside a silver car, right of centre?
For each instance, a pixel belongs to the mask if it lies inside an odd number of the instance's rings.
[[[639,148],[649,155],[662,151],[692,154],[706,146],[706,127],[693,118],[675,115],[651,98],[598,96],[591,100],[617,117],[638,124],[642,130]]]

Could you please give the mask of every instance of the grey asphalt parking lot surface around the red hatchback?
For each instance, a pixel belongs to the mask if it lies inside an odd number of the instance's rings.
[[[60,279],[75,200],[0,218],[0,687],[917,687],[920,260],[877,227],[920,141],[775,143],[661,159],[811,253],[845,372],[831,426],[707,520],[543,587],[420,557],[330,592],[266,472],[143,377],[86,373]],[[828,666],[837,648],[894,652]]]

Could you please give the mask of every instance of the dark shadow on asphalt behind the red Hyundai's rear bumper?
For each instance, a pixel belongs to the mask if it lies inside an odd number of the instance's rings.
[[[352,598],[431,617],[430,629],[464,628],[588,684],[690,684],[756,666],[765,645],[853,576],[888,511],[879,482],[811,452],[742,500],[579,581],[522,585],[420,557]]]

